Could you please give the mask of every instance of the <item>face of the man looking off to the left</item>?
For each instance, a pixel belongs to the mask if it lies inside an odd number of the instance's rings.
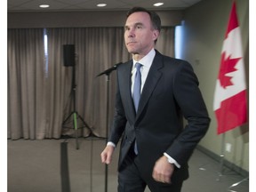
[[[159,35],[147,12],[134,12],[126,20],[124,41],[128,52],[144,56],[155,46]]]

